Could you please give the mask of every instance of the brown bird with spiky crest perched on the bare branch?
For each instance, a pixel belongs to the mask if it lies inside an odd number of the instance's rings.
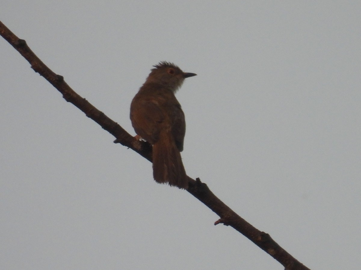
[[[188,180],[180,153],[186,121],[174,94],[185,78],[197,74],[183,72],[169,62],[160,62],[153,67],[132,100],[130,120],[136,134],[153,145],[154,179],[158,183],[187,189]]]

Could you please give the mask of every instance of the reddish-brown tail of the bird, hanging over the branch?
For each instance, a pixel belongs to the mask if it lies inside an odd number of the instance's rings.
[[[158,183],[188,188],[181,153],[173,136],[167,132],[161,132],[159,140],[153,145],[153,177]]]

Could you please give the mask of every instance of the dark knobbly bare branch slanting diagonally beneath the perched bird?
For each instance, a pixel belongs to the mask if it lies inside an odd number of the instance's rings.
[[[144,158],[152,161],[151,145],[147,142],[135,139],[120,125],[118,125],[118,123],[114,122],[103,112],[95,108],[85,98],[82,98],[80,95],[75,93],[75,91],[66,84],[62,76],[51,71],[51,69],[49,69],[32,52],[29,46],[27,46],[25,40],[19,39],[1,21],[0,35],[3,36],[4,39],[8,41],[30,63],[31,68],[34,69],[35,72],[39,73],[48,82],[50,82],[63,95],[63,98],[67,102],[74,104],[83,111],[87,117],[91,118],[103,129],[112,134],[116,138],[114,143],[120,143],[129,147]],[[193,180],[191,177],[188,177],[188,181],[189,188],[187,191],[199,199],[199,201],[203,202],[210,208],[210,210],[220,217],[214,225],[223,223],[224,225],[233,227],[280,262],[286,270],[309,270],[309,268],[301,264],[301,262],[297,261],[287,251],[280,247],[269,234],[256,229],[232,211],[231,208],[217,198],[216,195],[210,191],[208,186],[205,183],[202,183],[199,178]]]

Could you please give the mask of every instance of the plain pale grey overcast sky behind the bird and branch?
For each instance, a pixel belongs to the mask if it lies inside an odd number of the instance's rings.
[[[311,269],[360,269],[360,1],[3,1],[0,20],[135,135],[152,65],[187,78],[182,152]],[[67,103],[0,39],[1,269],[283,266]]]

